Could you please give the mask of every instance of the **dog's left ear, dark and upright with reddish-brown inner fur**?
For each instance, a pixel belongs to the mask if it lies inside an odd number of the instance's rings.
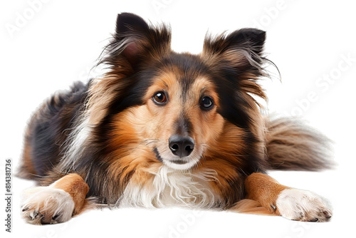
[[[100,63],[107,63],[113,70],[120,66],[126,71],[125,74],[128,69],[135,71],[142,62],[170,51],[169,27],[150,26],[135,14],[118,14],[113,36],[113,41],[105,48],[106,54]]]

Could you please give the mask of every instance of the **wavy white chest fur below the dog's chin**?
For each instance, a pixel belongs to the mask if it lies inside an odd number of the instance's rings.
[[[214,207],[219,197],[212,192],[209,181],[216,180],[214,170],[197,173],[172,170],[162,166],[151,182],[138,186],[129,182],[118,202],[120,207]]]

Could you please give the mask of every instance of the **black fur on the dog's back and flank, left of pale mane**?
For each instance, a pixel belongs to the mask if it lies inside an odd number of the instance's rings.
[[[27,139],[38,175],[45,176],[63,156],[62,146],[83,107],[87,89],[88,85],[78,82],[70,90],[53,95],[29,125],[32,129]]]

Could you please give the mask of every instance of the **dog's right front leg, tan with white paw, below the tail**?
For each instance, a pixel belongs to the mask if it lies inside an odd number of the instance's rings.
[[[326,222],[332,211],[328,202],[313,192],[279,184],[272,177],[253,173],[245,180],[246,198],[259,202],[270,212],[288,219]]]

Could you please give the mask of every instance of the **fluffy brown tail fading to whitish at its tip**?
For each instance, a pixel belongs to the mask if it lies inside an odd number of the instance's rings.
[[[266,150],[272,170],[325,170],[333,167],[331,140],[298,121],[266,122]]]

